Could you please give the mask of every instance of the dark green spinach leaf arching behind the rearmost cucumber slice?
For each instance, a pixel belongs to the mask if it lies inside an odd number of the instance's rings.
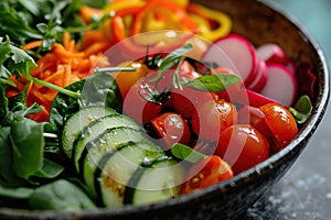
[[[65,89],[81,94],[75,99],[64,94],[58,94],[52,102],[50,123],[55,131],[62,131],[65,121],[81,108],[89,106],[107,106],[116,111],[121,111],[121,96],[118,86],[108,74],[96,74],[76,81]]]

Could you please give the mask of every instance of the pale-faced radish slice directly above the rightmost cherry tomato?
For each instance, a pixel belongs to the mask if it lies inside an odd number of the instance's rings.
[[[280,64],[268,66],[268,80],[260,95],[289,107],[293,103],[298,90],[295,76]]]

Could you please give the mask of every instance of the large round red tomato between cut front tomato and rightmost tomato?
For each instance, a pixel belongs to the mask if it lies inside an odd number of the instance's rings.
[[[221,133],[216,155],[238,174],[269,157],[269,142],[254,127],[234,124]]]

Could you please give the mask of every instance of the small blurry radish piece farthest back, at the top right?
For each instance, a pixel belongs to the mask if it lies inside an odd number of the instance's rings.
[[[256,55],[260,59],[264,59],[267,65],[270,64],[284,64],[286,65],[288,62],[286,53],[282,48],[274,43],[264,44],[256,48]]]

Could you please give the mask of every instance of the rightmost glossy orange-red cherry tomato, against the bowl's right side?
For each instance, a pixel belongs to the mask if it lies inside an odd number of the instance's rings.
[[[277,152],[298,134],[296,119],[285,107],[277,103],[267,103],[259,109],[265,114],[266,123],[276,140],[273,151]]]

